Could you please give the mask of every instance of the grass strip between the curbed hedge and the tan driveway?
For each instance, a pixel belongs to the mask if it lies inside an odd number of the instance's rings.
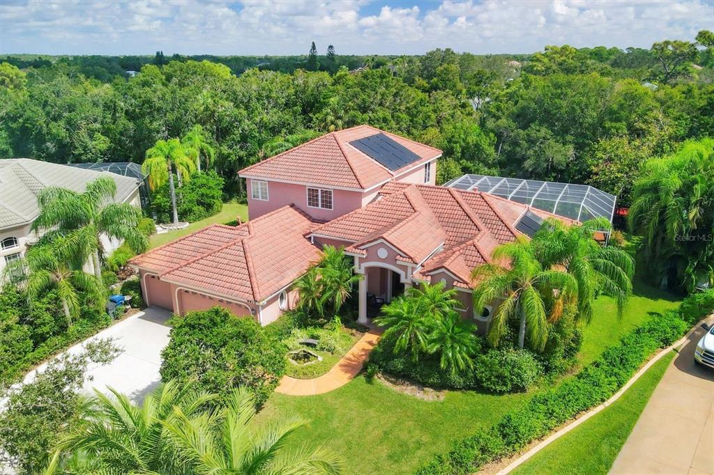
[[[653,364],[615,403],[538,452],[513,475],[607,474],[675,353]]]

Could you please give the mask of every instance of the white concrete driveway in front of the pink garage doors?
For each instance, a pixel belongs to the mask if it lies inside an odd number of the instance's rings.
[[[161,382],[161,350],[169,343],[166,320],[170,316],[167,310],[149,307],[68,349],[67,352],[76,354],[87,341],[111,337],[124,350],[106,366],[89,367],[87,374],[92,379],[84,384],[84,392],[93,394],[94,387],[106,392],[106,387],[111,386],[135,402],[141,402]],[[42,364],[29,372],[25,381],[29,382],[36,371],[41,372],[45,366]]]

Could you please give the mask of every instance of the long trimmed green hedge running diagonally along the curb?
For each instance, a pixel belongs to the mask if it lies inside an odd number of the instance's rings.
[[[708,306],[702,306],[708,305]],[[536,394],[521,409],[505,414],[494,426],[455,444],[417,471],[418,475],[467,474],[509,456],[550,433],[581,412],[607,400],[628,382],[658,348],[673,344],[695,322],[714,311],[714,292],[690,295],[677,312],[653,317],[603,352],[577,376]]]

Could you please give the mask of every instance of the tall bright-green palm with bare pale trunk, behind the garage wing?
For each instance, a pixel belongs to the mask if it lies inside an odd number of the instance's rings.
[[[171,194],[171,207],[174,212],[174,224],[178,224],[178,211],[176,210],[176,189],[174,188],[174,170],[181,177],[189,179],[196,170],[196,161],[186,155],[181,141],[170,138],[168,141],[157,141],[156,145],[146,150],[146,160],[141,165],[141,171],[149,175],[149,186],[152,190],[169,180],[169,193]]]

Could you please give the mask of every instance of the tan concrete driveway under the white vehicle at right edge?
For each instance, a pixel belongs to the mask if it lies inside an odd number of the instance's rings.
[[[694,363],[703,334],[673,359],[610,474],[714,474],[714,370]]]

